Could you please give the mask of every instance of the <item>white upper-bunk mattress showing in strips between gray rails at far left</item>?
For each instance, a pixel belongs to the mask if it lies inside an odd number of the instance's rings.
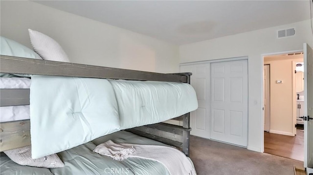
[[[29,89],[29,78],[0,78],[0,89]],[[29,119],[29,105],[0,107],[0,122]]]

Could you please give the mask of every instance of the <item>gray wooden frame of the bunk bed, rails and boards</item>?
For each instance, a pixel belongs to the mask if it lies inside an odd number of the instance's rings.
[[[2,55],[0,56],[0,72],[46,76],[168,81],[189,84],[190,76],[192,75],[191,73],[160,74]],[[0,90],[0,106],[15,105],[29,105],[29,89]],[[156,123],[128,129],[127,131],[175,146],[186,156],[189,156],[189,136],[191,131],[189,113],[174,119],[182,121],[182,126],[168,123]],[[1,152],[28,145],[30,145],[29,120],[0,123]]]

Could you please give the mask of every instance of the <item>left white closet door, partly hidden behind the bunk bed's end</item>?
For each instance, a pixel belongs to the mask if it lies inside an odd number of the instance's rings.
[[[199,108],[190,113],[191,135],[210,138],[209,91],[210,64],[180,66],[180,72],[191,72],[191,85],[195,89]]]

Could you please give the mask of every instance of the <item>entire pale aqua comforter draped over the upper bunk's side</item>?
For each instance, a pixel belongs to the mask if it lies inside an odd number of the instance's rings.
[[[110,81],[110,82],[109,82]],[[32,76],[32,158],[198,108],[187,83]]]

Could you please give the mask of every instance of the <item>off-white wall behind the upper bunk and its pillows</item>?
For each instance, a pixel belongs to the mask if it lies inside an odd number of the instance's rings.
[[[148,36],[32,1],[0,1],[0,34],[31,48],[28,28],[55,39],[71,62],[179,72],[179,48]]]

